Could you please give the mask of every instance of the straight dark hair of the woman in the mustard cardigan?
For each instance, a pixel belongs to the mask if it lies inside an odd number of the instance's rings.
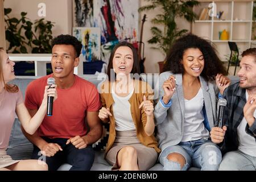
[[[111,69],[113,69],[113,58],[114,58],[114,54],[115,51],[117,51],[117,49],[119,47],[129,47],[131,48],[131,51],[133,51],[133,69],[131,69],[131,73],[138,73],[140,74],[140,69],[139,69],[139,60],[138,60],[138,54],[137,54],[137,50],[135,49],[135,47],[133,46],[133,44],[127,43],[125,41],[123,42],[119,42],[118,44],[115,45],[115,47],[113,48],[110,57],[109,57],[109,65],[108,65],[108,69],[107,69],[107,75],[110,79],[110,73],[111,73]]]

